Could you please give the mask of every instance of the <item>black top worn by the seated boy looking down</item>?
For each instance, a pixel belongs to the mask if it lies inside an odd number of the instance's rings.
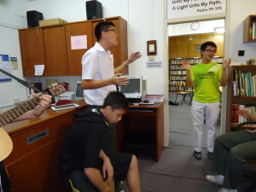
[[[86,167],[101,170],[102,160],[99,154],[108,128],[108,121],[101,113],[84,111],[76,115],[61,147],[62,177]]]

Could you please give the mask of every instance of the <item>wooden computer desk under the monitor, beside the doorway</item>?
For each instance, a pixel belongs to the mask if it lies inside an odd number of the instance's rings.
[[[164,103],[154,105],[130,106],[119,122],[117,146],[121,151],[121,142],[127,131],[154,131],[155,159],[159,160],[164,150]]]

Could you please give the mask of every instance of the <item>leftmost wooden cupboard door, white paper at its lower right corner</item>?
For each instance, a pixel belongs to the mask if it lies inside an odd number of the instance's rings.
[[[34,76],[34,65],[44,65],[44,43],[41,28],[22,29],[20,52],[24,77]]]

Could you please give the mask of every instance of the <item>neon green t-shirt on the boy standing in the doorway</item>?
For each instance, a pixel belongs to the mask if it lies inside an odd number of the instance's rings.
[[[215,62],[198,63],[191,67],[191,79],[195,81],[196,102],[219,102],[218,80],[222,77],[222,65]]]

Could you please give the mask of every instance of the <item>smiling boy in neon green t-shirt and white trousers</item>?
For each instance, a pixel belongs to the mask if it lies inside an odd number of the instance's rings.
[[[218,84],[227,84],[226,68],[230,66],[230,59],[223,65],[212,62],[217,52],[217,45],[212,41],[201,44],[201,63],[191,67],[189,62],[183,60],[183,67],[187,70],[186,84],[195,87],[191,116],[194,133],[194,156],[201,160],[202,127],[206,117],[207,124],[207,150],[209,159],[213,159],[213,146],[216,137],[215,126],[219,114]]]

